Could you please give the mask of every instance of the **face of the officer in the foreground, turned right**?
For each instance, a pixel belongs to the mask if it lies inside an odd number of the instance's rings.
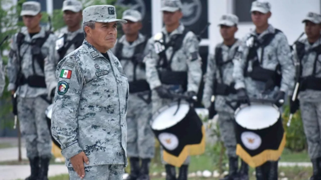
[[[95,29],[86,26],[85,31],[91,42],[106,50],[114,47],[117,38],[117,22],[95,22]]]

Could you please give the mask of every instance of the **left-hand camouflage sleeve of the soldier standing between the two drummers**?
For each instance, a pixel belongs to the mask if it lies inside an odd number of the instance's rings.
[[[206,77],[204,83],[204,91],[202,102],[205,108],[211,107],[211,98],[213,95],[214,81],[215,81],[215,56],[213,54],[209,54],[207,58],[207,68],[206,68]]]

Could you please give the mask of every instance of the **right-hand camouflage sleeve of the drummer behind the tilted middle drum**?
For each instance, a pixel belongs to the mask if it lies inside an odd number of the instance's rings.
[[[185,53],[187,54],[187,91],[198,93],[202,81],[202,58],[198,53],[199,42],[194,33],[189,32],[186,35],[184,44]]]

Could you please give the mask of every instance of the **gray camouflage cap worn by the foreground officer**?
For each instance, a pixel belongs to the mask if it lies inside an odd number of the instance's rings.
[[[82,23],[95,22],[121,22],[126,23],[126,20],[117,19],[116,8],[112,5],[93,5],[86,7],[82,11]]]

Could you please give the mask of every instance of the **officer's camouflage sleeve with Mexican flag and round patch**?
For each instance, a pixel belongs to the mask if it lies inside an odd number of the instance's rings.
[[[63,65],[57,71],[58,85],[51,120],[52,136],[61,144],[61,154],[67,159],[82,151],[82,148],[78,144],[77,115],[83,78],[81,77],[81,73],[79,73],[81,70],[77,68],[78,66],[72,58],[74,57],[67,56],[59,62],[59,64],[63,63]],[[74,65],[71,67],[71,64]]]

